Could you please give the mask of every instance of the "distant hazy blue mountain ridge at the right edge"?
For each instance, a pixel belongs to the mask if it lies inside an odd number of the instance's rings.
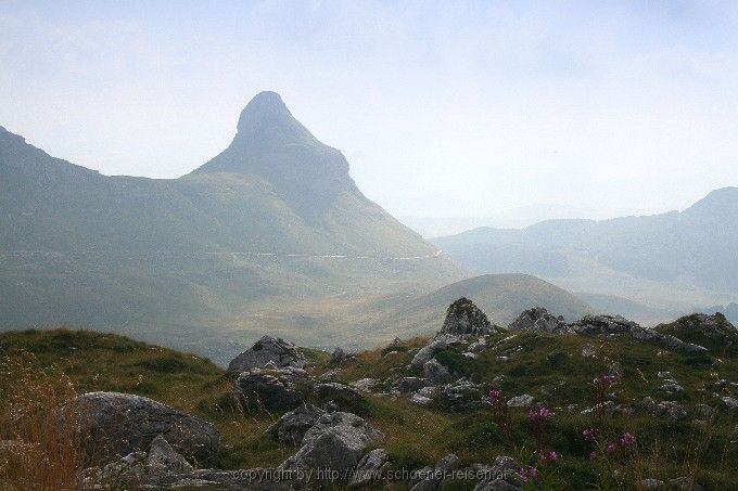
[[[602,270],[685,288],[736,292],[738,188],[713,191],[680,212],[546,220],[521,230],[482,228],[432,242],[473,271],[557,279],[555,283],[572,292],[621,295],[633,283],[622,280],[619,292],[591,292],[590,284]],[[598,270],[583,264],[596,264]],[[697,305],[685,306],[685,311]]]

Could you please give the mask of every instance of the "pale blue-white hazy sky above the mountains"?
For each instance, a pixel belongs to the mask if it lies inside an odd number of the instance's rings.
[[[262,90],[397,215],[738,185],[735,1],[0,0],[0,125],[103,173],[187,173]]]

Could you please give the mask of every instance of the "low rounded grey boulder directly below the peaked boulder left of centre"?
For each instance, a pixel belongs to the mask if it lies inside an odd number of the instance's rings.
[[[233,398],[249,411],[292,410],[303,402],[303,395],[295,389],[293,382],[259,369],[239,375]]]

